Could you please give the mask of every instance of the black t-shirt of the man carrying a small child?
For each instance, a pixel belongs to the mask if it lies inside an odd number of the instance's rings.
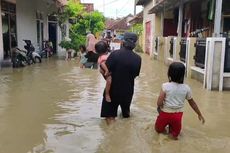
[[[106,65],[112,75],[111,95],[132,96],[134,79],[140,73],[141,57],[132,50],[121,48],[110,54]]]

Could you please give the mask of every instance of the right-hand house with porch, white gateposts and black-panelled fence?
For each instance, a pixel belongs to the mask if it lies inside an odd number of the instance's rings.
[[[152,15],[154,59],[181,61],[209,90],[230,88],[229,0],[136,0],[144,7],[145,43]]]

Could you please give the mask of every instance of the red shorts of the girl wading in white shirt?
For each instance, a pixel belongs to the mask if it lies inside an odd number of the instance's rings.
[[[166,113],[161,111],[155,123],[155,130],[158,133],[162,133],[165,131],[165,127],[169,125],[169,133],[173,137],[177,137],[181,131],[182,115],[183,112]]]

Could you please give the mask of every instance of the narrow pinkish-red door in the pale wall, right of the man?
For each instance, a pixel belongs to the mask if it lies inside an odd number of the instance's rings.
[[[145,52],[150,54],[151,50],[151,21],[145,23]]]

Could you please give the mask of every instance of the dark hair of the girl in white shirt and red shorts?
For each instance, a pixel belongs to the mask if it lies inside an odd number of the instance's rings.
[[[173,62],[169,65],[168,78],[169,82],[184,83],[185,66],[180,62]]]

